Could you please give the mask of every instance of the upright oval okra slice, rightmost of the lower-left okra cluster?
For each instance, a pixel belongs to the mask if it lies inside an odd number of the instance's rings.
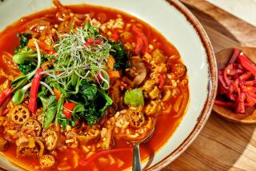
[[[42,133],[42,139],[46,145],[46,149],[55,149],[58,144],[58,133],[54,130],[46,129]]]

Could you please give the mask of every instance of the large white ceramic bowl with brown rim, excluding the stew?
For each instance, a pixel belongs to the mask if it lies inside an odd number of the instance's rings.
[[[162,169],[194,141],[210,115],[217,89],[217,67],[210,40],[201,24],[176,0],[61,0],[65,5],[88,3],[125,11],[153,26],[179,51],[188,69],[190,104],[169,141],[158,149],[146,169]],[[0,2],[0,30],[19,18],[53,6],[50,0]],[[0,160],[4,169],[17,169]],[[146,165],[146,162],[143,163]]]

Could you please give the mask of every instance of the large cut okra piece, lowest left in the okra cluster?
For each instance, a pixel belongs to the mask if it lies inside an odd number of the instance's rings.
[[[45,147],[42,144],[42,141],[34,137],[29,137],[26,141],[22,141],[22,143],[18,145],[16,153],[18,156],[41,157],[44,149]]]

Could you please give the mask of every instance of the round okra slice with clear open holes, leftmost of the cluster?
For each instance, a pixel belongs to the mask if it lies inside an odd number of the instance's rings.
[[[11,109],[10,117],[15,124],[24,124],[30,117],[30,110],[24,105],[17,105]]]

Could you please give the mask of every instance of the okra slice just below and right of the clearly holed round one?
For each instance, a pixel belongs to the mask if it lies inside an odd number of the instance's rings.
[[[42,132],[42,126],[35,119],[29,119],[22,125],[22,133],[32,137],[39,136]]]

